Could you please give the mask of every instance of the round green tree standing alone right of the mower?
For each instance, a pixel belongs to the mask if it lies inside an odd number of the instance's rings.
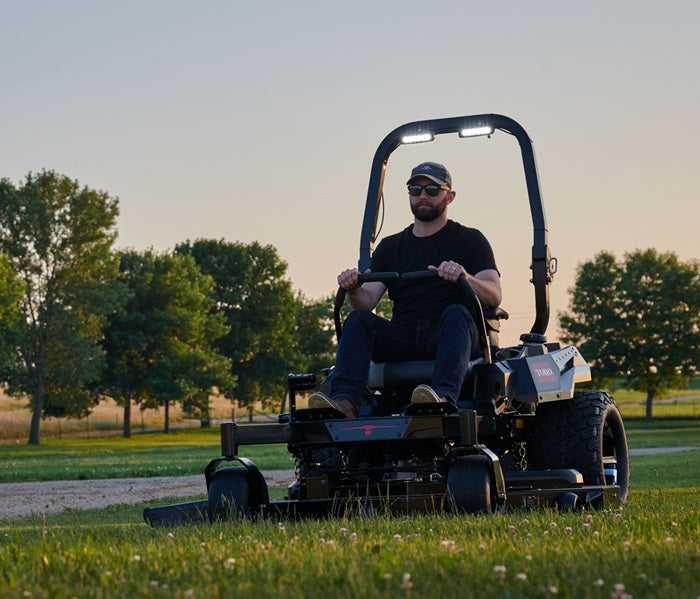
[[[623,377],[646,391],[646,417],[659,391],[687,386],[700,364],[700,266],[654,249],[608,252],[579,265],[569,314],[559,322],[594,380]]]

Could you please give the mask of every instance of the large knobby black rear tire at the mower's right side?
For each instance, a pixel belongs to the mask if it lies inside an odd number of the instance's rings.
[[[620,499],[627,502],[627,436],[607,393],[582,391],[570,400],[538,405],[528,450],[533,469],[574,468],[586,485],[618,484]]]

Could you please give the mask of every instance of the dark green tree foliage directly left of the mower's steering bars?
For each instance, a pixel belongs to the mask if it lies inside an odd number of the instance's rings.
[[[192,255],[215,281],[215,309],[231,327],[216,347],[231,359],[237,383],[235,393],[224,391],[249,413],[256,402],[271,405],[284,397],[289,372],[327,357],[328,324],[325,336],[299,334],[302,326],[322,326],[325,310],[294,295],[284,278],[287,264],[275,248],[257,242],[197,240],[180,244],[176,252]]]

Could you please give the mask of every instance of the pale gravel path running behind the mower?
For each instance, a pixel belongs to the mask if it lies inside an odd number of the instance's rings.
[[[630,455],[680,453],[700,447],[656,447],[631,449]],[[287,485],[292,470],[263,472],[268,485]],[[67,509],[93,509],[108,505],[140,503],[151,499],[205,496],[203,474],[157,478],[103,480],[59,480],[31,483],[0,483],[0,520],[32,515],[58,514]]]

